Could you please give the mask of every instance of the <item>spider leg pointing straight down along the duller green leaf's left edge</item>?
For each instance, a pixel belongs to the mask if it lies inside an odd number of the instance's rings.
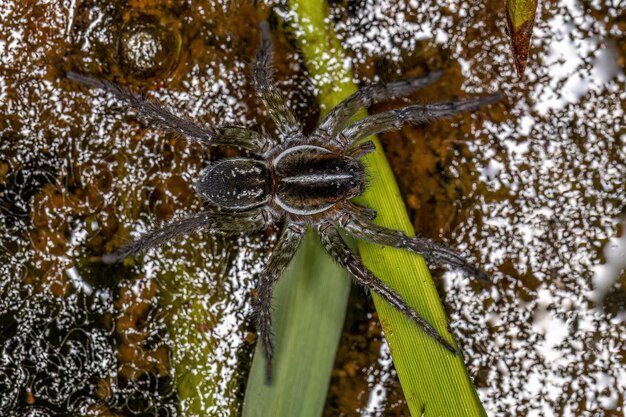
[[[272,382],[272,359],[274,358],[272,288],[281,277],[289,261],[294,257],[303,236],[304,228],[295,224],[287,225],[280,239],[278,239],[265,271],[259,277],[254,312],[257,330],[265,351],[265,381],[267,384]]]

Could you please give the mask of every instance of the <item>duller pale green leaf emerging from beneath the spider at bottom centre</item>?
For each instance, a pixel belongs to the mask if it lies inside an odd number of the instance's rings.
[[[319,417],[343,327],[350,279],[309,232],[276,285],[274,381],[257,343],[243,416]]]

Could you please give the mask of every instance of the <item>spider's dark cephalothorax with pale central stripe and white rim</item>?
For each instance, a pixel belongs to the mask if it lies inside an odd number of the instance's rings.
[[[285,211],[312,215],[361,194],[365,170],[359,160],[314,145],[288,148],[273,162],[274,201]]]

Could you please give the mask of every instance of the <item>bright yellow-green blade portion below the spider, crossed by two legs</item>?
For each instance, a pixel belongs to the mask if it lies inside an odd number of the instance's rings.
[[[377,148],[380,150],[379,144]],[[384,154],[366,159],[372,183],[360,203],[378,211],[375,223],[414,235],[393,173]],[[396,289],[437,331],[452,340],[428,268],[419,255],[358,242],[365,265]],[[462,356],[454,356],[406,318],[373,295],[402,390],[413,416],[486,416]]]

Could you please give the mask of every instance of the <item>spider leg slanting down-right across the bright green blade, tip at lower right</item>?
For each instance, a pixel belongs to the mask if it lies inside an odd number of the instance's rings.
[[[413,320],[428,336],[435,339],[448,351],[455,355],[458,354],[456,348],[444,339],[424,317],[409,306],[400,294],[378,279],[376,275],[363,265],[361,257],[352,252],[332,223],[322,223],[318,227],[318,231],[326,251],[340,265],[346,268],[359,284],[374,291],[402,314]]]

